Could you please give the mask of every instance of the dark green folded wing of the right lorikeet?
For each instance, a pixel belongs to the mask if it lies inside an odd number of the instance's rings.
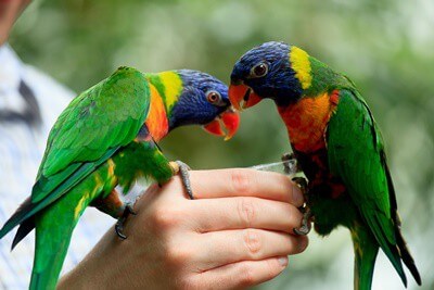
[[[327,144],[331,172],[344,180],[361,216],[406,285],[396,240],[396,199],[390,187],[383,141],[357,91],[341,90],[337,110],[329,122]]]

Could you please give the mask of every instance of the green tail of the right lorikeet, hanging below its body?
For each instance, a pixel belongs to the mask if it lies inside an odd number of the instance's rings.
[[[350,229],[350,232],[355,253],[354,289],[370,290],[379,252],[378,242],[363,226],[356,226],[356,228]]]

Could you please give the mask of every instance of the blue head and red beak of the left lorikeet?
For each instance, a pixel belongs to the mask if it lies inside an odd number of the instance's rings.
[[[182,91],[169,113],[169,128],[203,125],[208,133],[231,138],[240,118],[231,106],[228,86],[202,72],[179,70],[176,73],[181,78]]]

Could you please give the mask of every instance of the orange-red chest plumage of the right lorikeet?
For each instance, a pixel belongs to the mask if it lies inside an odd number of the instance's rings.
[[[311,153],[326,146],[326,128],[337,102],[339,91],[334,90],[278,108],[295,150]]]

